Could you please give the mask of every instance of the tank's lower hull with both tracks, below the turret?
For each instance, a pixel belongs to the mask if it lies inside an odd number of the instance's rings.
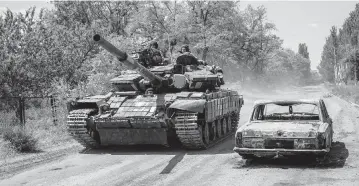
[[[70,134],[90,148],[170,146],[179,141],[186,149],[206,149],[236,130],[243,104],[237,92],[228,90],[125,97],[109,98],[108,112],[95,113],[91,108],[71,111]]]

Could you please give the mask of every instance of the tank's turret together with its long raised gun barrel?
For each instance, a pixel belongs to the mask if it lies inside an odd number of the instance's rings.
[[[206,65],[199,63],[197,58],[192,55],[180,55],[176,59],[176,64],[170,66],[170,71],[164,71],[162,74],[165,75],[158,76],[154,72],[161,74],[158,73],[158,69],[168,70],[168,67],[147,69],[100,35],[94,35],[93,39],[108,52],[115,55],[126,67],[147,78],[153,88],[156,88],[156,92],[174,92],[186,89],[206,91],[219,88],[223,84],[222,73],[216,73],[213,69],[208,69]]]

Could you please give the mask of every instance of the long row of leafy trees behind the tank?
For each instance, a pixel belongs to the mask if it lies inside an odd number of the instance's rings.
[[[92,41],[101,34],[131,53],[157,41],[168,58],[181,45],[224,69],[227,81],[303,84],[307,46],[282,47],[263,6],[236,1],[54,1],[53,9],[0,16],[0,96],[98,94],[124,70]],[[36,13],[36,11],[38,13]],[[176,45],[171,45],[176,44]]]

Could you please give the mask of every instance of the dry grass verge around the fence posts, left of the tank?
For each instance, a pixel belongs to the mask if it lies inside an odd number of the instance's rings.
[[[66,131],[65,102],[60,102],[57,108],[57,125],[53,123],[50,102],[46,99],[36,107],[29,106],[25,110],[25,116],[25,126],[20,127],[15,111],[0,111],[0,157],[45,151],[72,140]]]

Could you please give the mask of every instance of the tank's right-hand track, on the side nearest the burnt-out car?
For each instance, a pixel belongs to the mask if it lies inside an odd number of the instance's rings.
[[[237,117],[234,117],[237,116]],[[239,113],[231,115],[231,125],[238,125]],[[202,138],[202,133],[199,130],[200,121],[198,120],[197,113],[193,112],[178,112],[175,116],[175,129],[176,134],[183,147],[186,149],[207,149],[212,147],[213,145],[227,139],[231,134],[233,134],[234,130],[230,130],[225,135],[220,138],[216,138],[209,142],[209,144],[205,144]]]

